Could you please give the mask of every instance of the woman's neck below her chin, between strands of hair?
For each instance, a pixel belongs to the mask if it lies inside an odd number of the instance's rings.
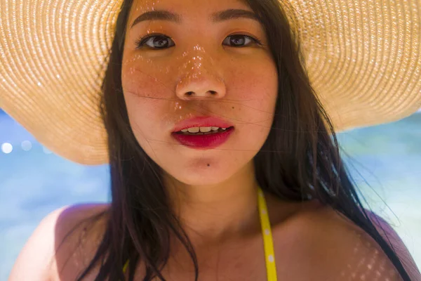
[[[258,183],[252,164],[215,185],[167,184],[175,214],[192,241],[222,242],[260,230]]]

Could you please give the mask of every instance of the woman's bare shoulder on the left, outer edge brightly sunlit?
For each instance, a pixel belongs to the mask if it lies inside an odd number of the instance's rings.
[[[45,216],[20,251],[9,280],[60,280],[55,273],[73,254],[76,237],[86,228],[83,221],[105,209],[105,204],[66,206]]]

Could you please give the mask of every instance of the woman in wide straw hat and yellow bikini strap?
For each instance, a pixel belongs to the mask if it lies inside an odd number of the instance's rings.
[[[0,4],[2,34],[38,31],[0,45],[0,105],[60,155],[109,161],[112,203],[46,216],[10,280],[421,280],[335,138],[421,107],[419,1],[25,1]],[[377,67],[371,28],[413,45]]]

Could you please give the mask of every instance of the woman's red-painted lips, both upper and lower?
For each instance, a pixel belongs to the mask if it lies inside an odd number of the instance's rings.
[[[210,132],[201,135],[182,133],[181,130],[193,127],[219,127],[226,128],[226,130],[219,129],[218,132]],[[184,120],[175,125],[171,135],[179,143],[189,148],[196,148],[200,150],[208,150],[217,148],[225,143],[229,136],[234,131],[234,126],[217,117],[194,117],[192,119]]]

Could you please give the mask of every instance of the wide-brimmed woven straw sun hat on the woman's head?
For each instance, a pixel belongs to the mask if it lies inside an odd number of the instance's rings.
[[[53,152],[107,162],[97,110],[122,0],[1,0],[0,107]],[[421,107],[421,0],[282,0],[337,131]]]

